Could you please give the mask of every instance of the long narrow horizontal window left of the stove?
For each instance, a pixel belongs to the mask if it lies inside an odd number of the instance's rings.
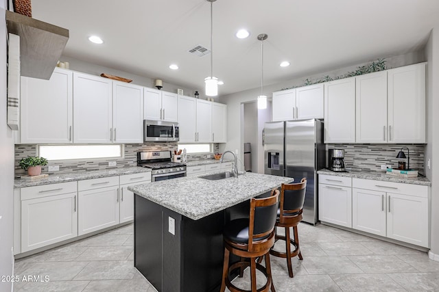
[[[121,158],[122,145],[38,145],[38,156],[47,160]]]

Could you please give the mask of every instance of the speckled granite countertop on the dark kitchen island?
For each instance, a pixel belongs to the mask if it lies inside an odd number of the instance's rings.
[[[130,191],[192,220],[198,220],[289,183],[292,178],[247,172],[209,181],[186,176],[128,187]]]

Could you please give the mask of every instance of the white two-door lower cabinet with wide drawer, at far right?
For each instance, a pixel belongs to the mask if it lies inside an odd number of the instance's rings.
[[[428,187],[353,178],[353,228],[429,247]]]

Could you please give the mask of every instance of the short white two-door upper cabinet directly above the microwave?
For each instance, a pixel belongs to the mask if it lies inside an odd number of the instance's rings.
[[[145,120],[177,122],[177,94],[152,88],[145,88],[144,94]]]

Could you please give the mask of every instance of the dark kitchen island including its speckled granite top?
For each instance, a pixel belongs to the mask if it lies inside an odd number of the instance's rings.
[[[250,198],[292,181],[250,172],[217,181],[190,176],[128,187],[136,194],[134,266],[158,291],[218,291],[225,222],[248,217]]]

